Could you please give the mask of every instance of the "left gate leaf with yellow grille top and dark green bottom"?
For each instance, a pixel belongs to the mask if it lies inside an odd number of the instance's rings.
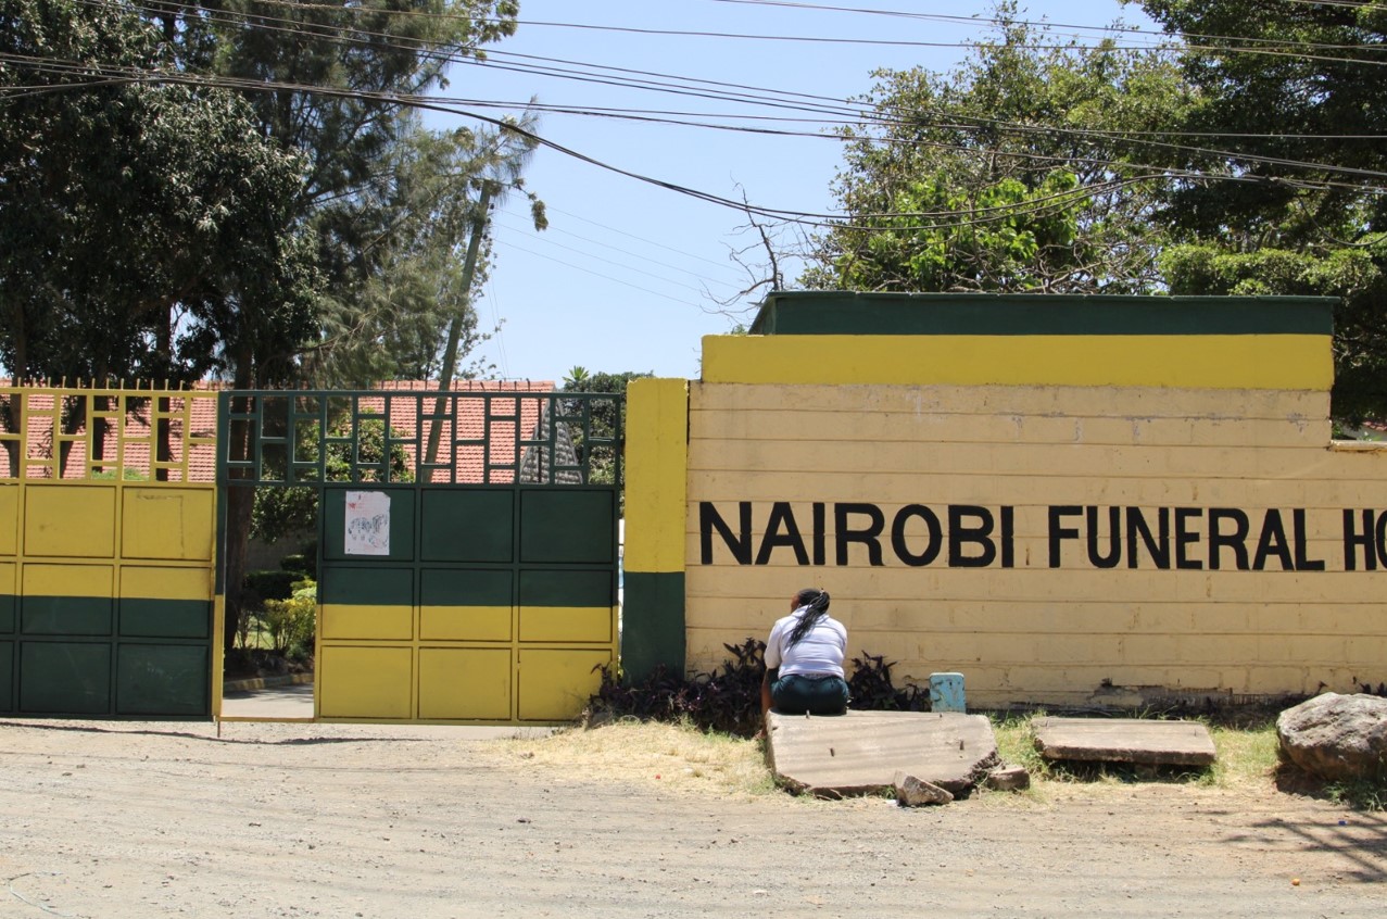
[[[215,407],[0,389],[0,715],[211,716]]]

